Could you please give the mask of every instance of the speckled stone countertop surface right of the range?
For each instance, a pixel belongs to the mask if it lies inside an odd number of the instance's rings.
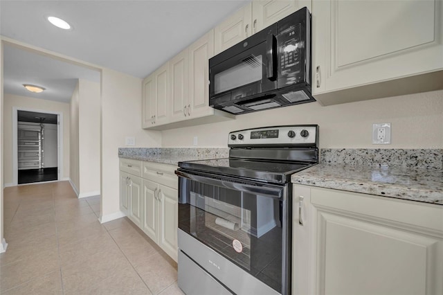
[[[291,177],[293,184],[443,205],[443,170],[320,163]]]

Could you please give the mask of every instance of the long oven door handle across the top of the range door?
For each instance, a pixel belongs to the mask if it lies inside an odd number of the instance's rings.
[[[213,186],[219,186],[223,188],[230,188],[232,190],[240,190],[245,193],[252,193],[256,195],[262,195],[264,197],[273,197],[280,199],[283,196],[283,188],[281,186],[274,186],[272,184],[245,184],[239,179],[238,182],[233,182],[233,179],[217,176],[217,179],[210,177],[204,177],[200,175],[194,175],[191,173],[175,170],[175,174],[179,177],[184,177],[190,180],[198,181],[203,184],[210,184]]]

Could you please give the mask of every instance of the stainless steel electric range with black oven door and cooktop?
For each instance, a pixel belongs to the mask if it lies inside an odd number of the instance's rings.
[[[318,163],[318,125],[230,132],[229,158],[179,163],[179,287],[291,294],[293,173]]]

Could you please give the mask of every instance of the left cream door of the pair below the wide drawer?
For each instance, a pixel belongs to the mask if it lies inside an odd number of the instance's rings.
[[[157,242],[157,224],[159,220],[157,206],[158,185],[155,182],[143,179],[142,181],[142,206],[143,217],[141,222],[141,229],[154,242]]]

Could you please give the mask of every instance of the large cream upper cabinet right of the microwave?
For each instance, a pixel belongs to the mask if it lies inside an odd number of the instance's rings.
[[[443,88],[442,1],[312,6],[312,92],[321,104]]]

